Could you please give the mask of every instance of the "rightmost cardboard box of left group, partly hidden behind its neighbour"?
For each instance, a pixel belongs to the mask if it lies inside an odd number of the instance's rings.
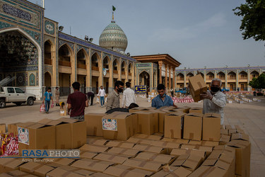
[[[62,122],[71,125],[71,149],[76,149],[86,144],[86,122],[71,118],[59,118]]]

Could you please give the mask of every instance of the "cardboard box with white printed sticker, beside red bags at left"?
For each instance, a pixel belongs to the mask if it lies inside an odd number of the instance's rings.
[[[40,123],[18,124],[18,151],[23,149],[55,149],[55,126]]]

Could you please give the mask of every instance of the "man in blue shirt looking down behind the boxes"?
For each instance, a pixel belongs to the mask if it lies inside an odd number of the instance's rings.
[[[165,94],[165,86],[163,84],[158,84],[158,96],[153,98],[152,107],[161,108],[163,106],[173,105],[172,98]]]

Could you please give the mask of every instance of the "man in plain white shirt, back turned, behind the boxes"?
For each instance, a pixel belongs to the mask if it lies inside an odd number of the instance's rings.
[[[126,90],[123,91],[122,108],[124,107],[129,108],[129,105],[131,105],[131,103],[136,103],[136,98],[134,96],[134,91],[130,88],[131,83],[127,81],[125,85],[126,85]]]

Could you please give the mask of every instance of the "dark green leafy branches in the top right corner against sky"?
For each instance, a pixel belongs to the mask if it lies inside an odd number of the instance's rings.
[[[265,40],[265,1],[246,0],[246,4],[232,9],[236,16],[242,16],[240,30],[243,39]]]

